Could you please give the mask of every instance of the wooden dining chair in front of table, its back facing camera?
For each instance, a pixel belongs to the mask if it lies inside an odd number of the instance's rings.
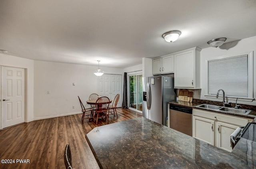
[[[108,106],[109,106],[109,98],[106,96],[100,97],[96,101],[96,109],[95,109],[95,116],[96,116],[96,124],[98,124],[98,118],[106,118],[108,121]]]

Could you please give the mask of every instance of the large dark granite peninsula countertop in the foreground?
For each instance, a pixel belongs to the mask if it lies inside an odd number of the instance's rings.
[[[256,167],[242,142],[229,153],[144,117],[96,127],[86,140],[104,169]]]

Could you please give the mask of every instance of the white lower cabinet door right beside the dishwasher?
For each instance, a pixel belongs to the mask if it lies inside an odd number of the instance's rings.
[[[214,145],[214,120],[193,116],[192,136]]]

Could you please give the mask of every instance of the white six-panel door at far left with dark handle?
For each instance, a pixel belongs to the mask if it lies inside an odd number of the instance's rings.
[[[1,67],[1,128],[25,122],[24,76],[24,69]]]

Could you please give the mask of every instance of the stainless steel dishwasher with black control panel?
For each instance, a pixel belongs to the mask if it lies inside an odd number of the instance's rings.
[[[170,128],[192,136],[192,108],[170,104]]]

